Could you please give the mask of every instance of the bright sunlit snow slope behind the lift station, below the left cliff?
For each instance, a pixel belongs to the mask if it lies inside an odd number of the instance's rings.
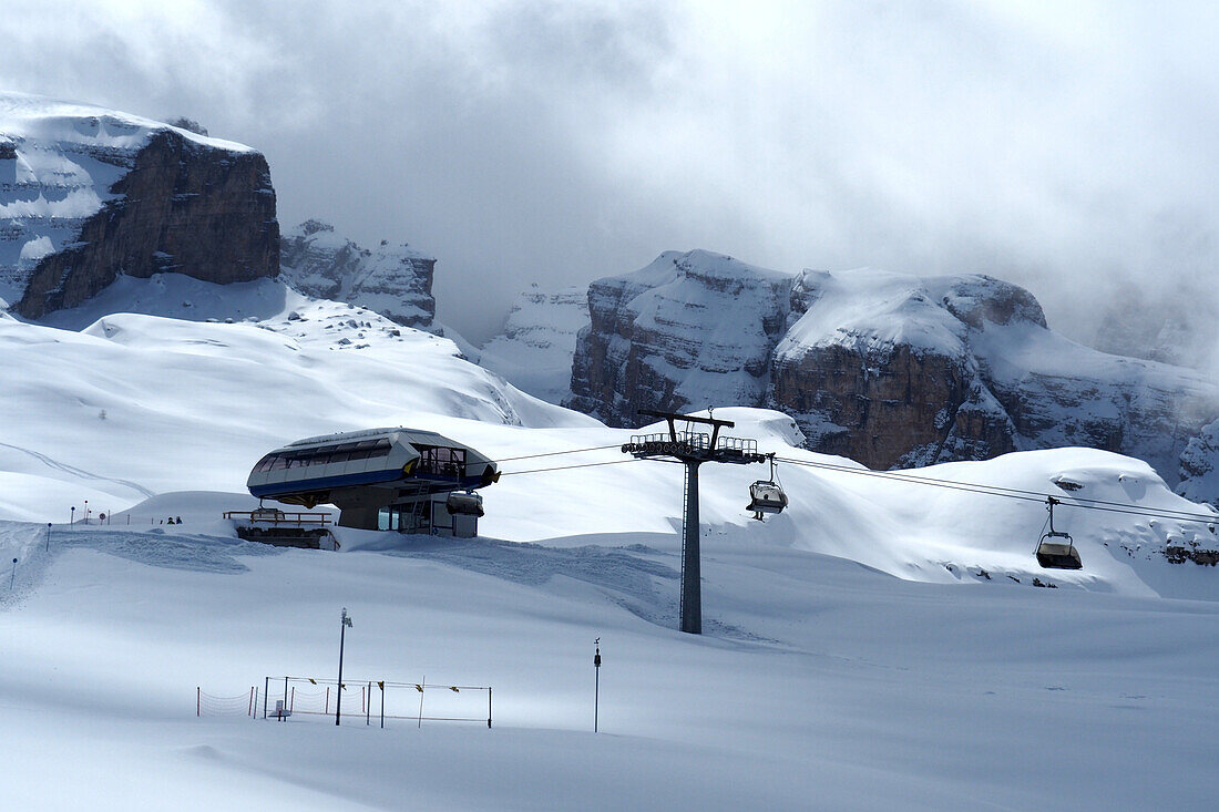
[[[236,491],[267,449],[368,421],[591,423],[461,361],[445,339],[350,305],[288,304],[257,324],[121,313],[73,333],[0,321],[0,475],[32,477],[0,497],[10,516],[59,515],[90,493],[117,510],[165,490]]]

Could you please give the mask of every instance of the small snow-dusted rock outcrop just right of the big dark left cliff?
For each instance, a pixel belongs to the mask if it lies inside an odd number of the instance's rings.
[[[368,250],[308,219],[284,234],[280,263],[283,278],[307,296],[360,305],[406,327],[433,326],[436,260],[405,243]]]

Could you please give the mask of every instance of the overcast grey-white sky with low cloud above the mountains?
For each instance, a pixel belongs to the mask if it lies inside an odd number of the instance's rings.
[[[261,149],[286,229],[439,258],[479,340],[517,290],[705,248],[1219,296],[1219,4],[5,0],[0,87]]]

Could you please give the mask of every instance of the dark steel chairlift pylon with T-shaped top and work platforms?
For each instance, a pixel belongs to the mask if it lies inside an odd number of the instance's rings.
[[[681,519],[681,630],[702,634],[701,554],[698,549],[698,466],[705,462],[750,465],[766,462],[757,440],[720,436],[719,429],[735,428],[731,421],[674,412],[640,411],[644,417],[668,422],[668,434],[638,434],[622,446],[623,454],[639,460],[680,462],[685,466],[685,510]],[[677,424],[685,423],[678,432]],[[692,426],[709,426],[711,434],[692,432]]]

